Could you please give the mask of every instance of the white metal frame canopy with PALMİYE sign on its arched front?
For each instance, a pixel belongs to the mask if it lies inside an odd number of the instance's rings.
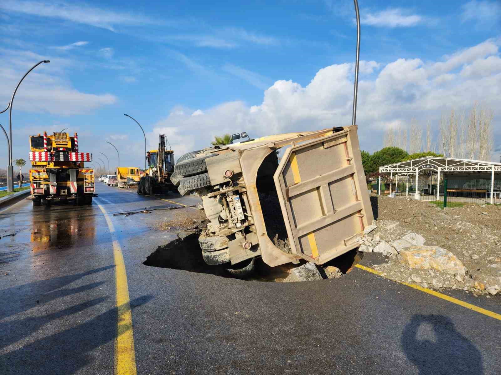
[[[471,159],[456,159],[449,157],[438,156],[425,156],[417,159],[400,161],[393,164],[383,165],[379,167],[379,173],[390,173],[391,178],[393,175],[398,174],[415,174],[416,186],[418,181],[419,172],[424,170],[434,170],[437,172],[437,182],[440,180],[440,173],[471,173],[483,172],[491,174],[490,184],[490,202],[492,203],[494,191],[494,173],[501,173],[501,163],[482,160]],[[391,192],[391,191],[390,191]],[[378,194],[381,194],[381,177],[379,177]],[[437,190],[437,197],[439,189]],[[418,198],[419,191],[416,190],[416,198]]]

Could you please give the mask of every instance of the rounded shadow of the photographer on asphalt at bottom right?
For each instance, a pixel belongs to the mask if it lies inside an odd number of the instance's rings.
[[[402,349],[420,375],[482,375],[480,351],[444,315],[414,315],[404,328]]]

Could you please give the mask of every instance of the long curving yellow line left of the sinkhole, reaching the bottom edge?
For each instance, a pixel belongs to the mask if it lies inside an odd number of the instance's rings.
[[[136,375],[136,353],[134,350],[134,333],[132,331],[132,312],[130,309],[129,287],[125,271],[124,257],[120,243],[116,239],[115,227],[101,204],[106,223],[113,239],[113,257],[115,261],[116,304],[118,309],[117,337],[115,339],[115,371],[116,375]]]

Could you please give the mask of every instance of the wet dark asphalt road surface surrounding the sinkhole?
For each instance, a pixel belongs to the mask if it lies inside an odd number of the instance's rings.
[[[111,214],[199,200],[97,192],[91,206],[0,211],[0,374],[119,372],[118,245],[139,374],[501,373],[500,320],[359,268],[273,283],[147,266],[176,237],[155,225],[181,210]],[[449,294],[501,313],[499,297]]]

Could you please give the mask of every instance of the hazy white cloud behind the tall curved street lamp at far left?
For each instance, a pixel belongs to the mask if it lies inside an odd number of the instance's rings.
[[[0,81],[3,87],[16,87],[19,78],[33,66],[33,61],[46,59],[26,50],[0,48],[5,56],[0,60]],[[54,114],[89,113],[103,105],[117,101],[115,95],[104,93],[85,93],[72,87],[67,80],[67,69],[72,61],[52,58],[51,63],[37,66],[24,80],[16,93],[15,106],[30,112],[49,112]],[[10,100],[11,91],[0,90],[0,102]]]

